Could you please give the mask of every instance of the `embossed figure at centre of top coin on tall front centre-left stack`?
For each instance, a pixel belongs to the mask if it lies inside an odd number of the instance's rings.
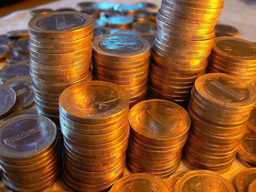
[[[111,106],[117,105],[119,100],[120,96],[114,89],[89,85],[82,92],[80,99],[74,102],[74,107],[81,112],[90,110],[93,113],[98,110],[109,110]]]

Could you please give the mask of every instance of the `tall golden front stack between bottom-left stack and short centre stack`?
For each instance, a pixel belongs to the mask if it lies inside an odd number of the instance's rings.
[[[129,138],[129,96],[103,81],[71,85],[62,92],[62,182],[72,191],[105,191],[122,174]]]

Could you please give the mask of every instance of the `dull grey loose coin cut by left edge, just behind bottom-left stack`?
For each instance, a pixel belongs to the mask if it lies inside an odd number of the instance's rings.
[[[7,85],[0,85],[0,117],[6,116],[16,105],[16,92]]]

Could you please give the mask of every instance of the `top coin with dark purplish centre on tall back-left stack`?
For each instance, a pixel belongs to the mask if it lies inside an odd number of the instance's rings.
[[[41,15],[28,23],[28,31],[41,38],[64,38],[88,31],[93,18],[80,12],[54,12]]]

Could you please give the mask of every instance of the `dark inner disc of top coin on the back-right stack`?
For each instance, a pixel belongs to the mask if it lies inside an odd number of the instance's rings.
[[[255,47],[238,40],[225,39],[216,42],[217,48],[237,57],[252,57],[256,55]]]

